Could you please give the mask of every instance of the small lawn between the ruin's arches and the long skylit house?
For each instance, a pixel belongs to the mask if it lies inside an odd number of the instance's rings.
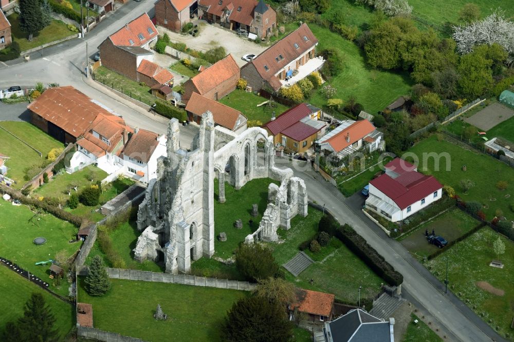
[[[275,102],[277,107],[274,108],[270,108],[266,105],[257,107],[258,104],[261,104],[264,101],[267,100],[254,93],[246,92],[240,89],[235,89],[226,97],[219,100],[219,102],[223,103],[224,105],[241,111],[243,115],[248,118],[248,120],[260,120],[263,124],[271,119],[273,111],[275,112],[275,116],[278,117],[284,111],[289,109],[288,107],[278,102]]]

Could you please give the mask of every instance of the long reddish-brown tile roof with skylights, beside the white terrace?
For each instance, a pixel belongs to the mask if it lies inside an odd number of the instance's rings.
[[[304,37],[306,37],[307,40],[305,40]],[[312,49],[317,43],[318,40],[307,24],[302,24],[295,31],[292,31],[283,39],[264,50],[247,65],[250,63],[253,64],[261,77],[268,81],[282,68]],[[295,44],[298,45],[298,48],[295,47]],[[283,59],[281,59],[279,55],[282,55]],[[278,62],[276,58],[279,58]],[[268,70],[266,70],[264,66],[267,66]]]

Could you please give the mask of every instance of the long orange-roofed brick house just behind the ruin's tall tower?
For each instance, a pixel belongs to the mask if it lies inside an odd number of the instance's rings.
[[[208,110],[212,112],[212,118],[216,125],[223,126],[234,132],[242,132],[247,128],[247,119],[243,113],[193,92],[186,106],[188,120],[199,124],[201,116]]]

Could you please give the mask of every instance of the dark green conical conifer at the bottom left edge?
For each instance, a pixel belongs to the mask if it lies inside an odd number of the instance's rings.
[[[25,303],[23,317],[18,320],[17,329],[21,341],[53,342],[59,340],[54,329],[56,318],[41,293],[32,293]]]

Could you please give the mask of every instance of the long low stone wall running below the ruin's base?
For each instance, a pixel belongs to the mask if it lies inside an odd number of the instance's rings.
[[[203,286],[208,288],[218,289],[231,289],[241,291],[253,291],[257,284],[248,281],[228,280],[198,277],[194,275],[185,274],[170,274],[170,273],[157,273],[150,271],[140,270],[127,270],[127,269],[112,269],[105,268],[107,275],[112,279],[125,279],[125,280],[142,280],[153,282],[167,282],[173,284],[184,284],[192,286]],[[87,275],[88,269],[86,266],[77,267],[78,275]]]

